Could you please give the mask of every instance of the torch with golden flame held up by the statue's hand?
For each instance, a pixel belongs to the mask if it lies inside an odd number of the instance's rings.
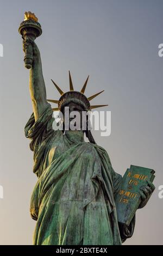
[[[26,11],[26,13],[24,13],[24,21],[18,28],[18,32],[22,35],[23,40],[27,41],[28,39],[34,41],[42,34],[41,25],[34,13],[31,13],[30,11]],[[27,69],[30,69],[32,68],[33,64],[33,46],[30,42],[28,47],[25,48],[24,52],[24,64]]]

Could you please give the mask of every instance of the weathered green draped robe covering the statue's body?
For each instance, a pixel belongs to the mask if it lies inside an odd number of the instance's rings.
[[[38,177],[30,202],[34,245],[121,245],[135,225],[135,216],[129,227],[117,221],[114,197],[122,176],[82,131],[53,130],[52,115],[48,104],[25,127]]]

